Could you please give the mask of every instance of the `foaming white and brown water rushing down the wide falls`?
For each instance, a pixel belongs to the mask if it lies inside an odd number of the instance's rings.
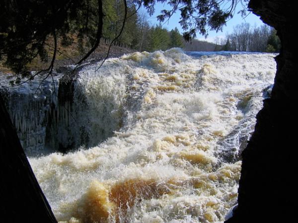
[[[276,65],[271,54],[191,56],[134,53],[80,71],[88,111],[77,112],[92,140],[102,126],[116,131],[95,147],[30,158],[58,221],[224,221]]]

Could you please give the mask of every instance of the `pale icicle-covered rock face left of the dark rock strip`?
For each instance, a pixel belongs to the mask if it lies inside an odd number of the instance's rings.
[[[31,82],[0,92],[21,145],[28,155],[39,153],[46,144],[46,129],[57,105],[58,85],[57,76],[54,82],[41,82],[37,77]]]

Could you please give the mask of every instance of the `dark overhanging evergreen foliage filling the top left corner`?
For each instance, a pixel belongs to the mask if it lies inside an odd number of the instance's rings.
[[[53,40],[56,59],[58,39],[69,45],[73,34],[85,36],[92,46],[84,60],[99,44],[103,28],[102,0],[1,0],[0,59],[15,73],[33,78],[27,64],[39,56],[47,60],[47,40]]]

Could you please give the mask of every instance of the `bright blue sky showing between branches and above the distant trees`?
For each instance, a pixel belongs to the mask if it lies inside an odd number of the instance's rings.
[[[156,19],[156,16],[160,14],[160,11],[162,9],[170,9],[170,6],[167,5],[166,3],[156,3],[155,4],[155,13],[151,17],[149,17],[149,22],[151,23],[151,25],[155,25],[155,24],[159,23]],[[254,26],[254,25],[260,26],[260,25],[264,24],[260,20],[260,18],[256,15],[254,15],[253,13],[249,13],[245,18],[242,18],[240,14],[237,14],[237,12],[240,9],[242,9],[242,6],[238,4],[233,18],[230,19],[229,21],[227,21],[226,26],[224,26],[224,28],[223,28],[223,32],[216,33],[215,31],[209,31],[209,36],[207,39],[205,39],[204,36],[197,33],[197,39],[213,42],[214,38],[217,36],[219,38],[224,38],[226,33],[231,33],[233,31],[234,26],[236,26],[237,24],[241,24],[243,22],[248,22],[251,24],[251,26]],[[162,26],[164,28],[167,28],[168,30],[171,30],[171,29],[174,29],[175,27],[177,27],[179,29],[180,33],[182,33],[183,30],[179,24],[179,20],[180,20],[180,13],[178,11],[177,13],[173,14],[172,17],[167,22],[162,23]]]

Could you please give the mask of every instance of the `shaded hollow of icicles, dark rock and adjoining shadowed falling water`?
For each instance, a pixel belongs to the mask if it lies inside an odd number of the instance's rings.
[[[29,157],[96,146],[120,127],[125,87],[117,95],[117,84],[109,88],[100,78],[90,84],[88,75],[70,75],[67,68],[58,72],[54,81],[38,76],[0,91]]]

